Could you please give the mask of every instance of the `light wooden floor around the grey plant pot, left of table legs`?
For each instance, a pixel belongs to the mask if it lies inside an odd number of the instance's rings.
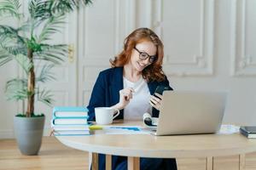
[[[88,169],[88,153],[70,149],[55,137],[44,137],[38,156],[22,156],[14,139],[0,140],[0,170]]]

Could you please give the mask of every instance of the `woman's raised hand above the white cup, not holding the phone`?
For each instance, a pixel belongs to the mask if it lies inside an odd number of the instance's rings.
[[[122,110],[125,108],[126,105],[130,103],[130,100],[132,99],[132,94],[134,93],[133,88],[124,88],[119,91],[119,103],[117,105],[114,105],[113,107],[119,110]]]

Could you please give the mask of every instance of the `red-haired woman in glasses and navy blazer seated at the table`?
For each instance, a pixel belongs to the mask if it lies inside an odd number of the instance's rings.
[[[148,28],[132,31],[125,38],[124,49],[110,60],[112,68],[101,71],[88,105],[90,121],[95,120],[96,107],[112,107],[120,111],[116,119],[143,120],[148,112],[159,116],[162,96],[157,86],[168,86],[162,71],[163,43]],[[171,87],[170,87],[171,88]],[[172,89],[172,88],[171,88]],[[113,156],[113,169],[127,169],[127,157]],[[141,158],[141,169],[177,169],[175,159]],[[105,156],[99,155],[99,169],[105,169]]]

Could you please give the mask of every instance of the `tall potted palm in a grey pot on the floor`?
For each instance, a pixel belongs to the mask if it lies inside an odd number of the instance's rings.
[[[55,79],[50,69],[67,57],[67,44],[53,44],[50,40],[64,26],[68,13],[89,3],[90,0],[31,0],[27,11],[21,14],[19,0],[0,2],[0,16],[20,23],[17,27],[0,25],[0,66],[15,61],[25,73],[24,77],[6,82],[5,88],[8,99],[26,104],[26,112],[17,114],[14,122],[15,138],[24,155],[37,155],[43,136],[45,116],[34,112],[35,99],[46,105],[53,102],[50,90],[39,88],[39,84]],[[44,63],[41,69],[37,68],[38,61]]]

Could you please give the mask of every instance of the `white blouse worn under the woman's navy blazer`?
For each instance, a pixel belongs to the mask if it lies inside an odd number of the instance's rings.
[[[143,120],[143,114],[148,112],[151,114],[152,107],[149,104],[150,93],[147,82],[141,77],[137,82],[130,82],[123,78],[124,88],[133,88],[134,93],[130,103],[125,106],[125,120]]]

